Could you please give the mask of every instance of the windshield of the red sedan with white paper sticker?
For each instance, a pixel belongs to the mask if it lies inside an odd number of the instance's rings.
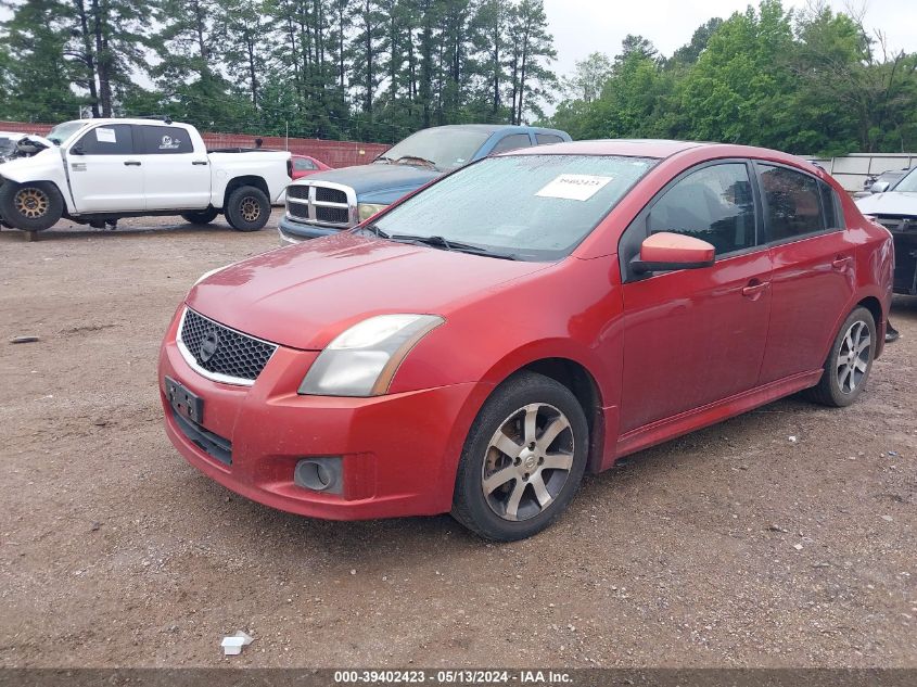
[[[403,239],[442,237],[515,259],[560,259],[657,162],[607,155],[489,157],[434,183],[370,227]]]

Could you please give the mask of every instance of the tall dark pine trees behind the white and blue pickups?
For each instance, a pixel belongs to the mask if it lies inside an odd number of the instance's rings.
[[[558,84],[543,0],[9,0],[0,117],[168,115],[394,142],[521,123]]]

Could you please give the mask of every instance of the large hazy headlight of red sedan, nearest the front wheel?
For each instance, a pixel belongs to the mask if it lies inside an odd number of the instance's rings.
[[[378,315],[351,327],[328,344],[303,383],[301,394],[380,396],[410,349],[445,322],[436,315]]]

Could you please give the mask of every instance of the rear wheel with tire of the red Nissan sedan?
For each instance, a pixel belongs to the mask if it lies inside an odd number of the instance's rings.
[[[868,341],[864,339],[868,336]],[[851,352],[851,343],[853,351]],[[859,397],[876,352],[876,322],[873,314],[856,307],[841,325],[831,344],[818,384],[804,392],[810,400],[824,406],[843,408]]]

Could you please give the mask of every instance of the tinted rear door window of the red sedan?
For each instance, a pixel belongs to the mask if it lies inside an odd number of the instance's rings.
[[[817,179],[787,167],[761,165],[760,168],[770,241],[786,241],[825,230],[827,225]]]

